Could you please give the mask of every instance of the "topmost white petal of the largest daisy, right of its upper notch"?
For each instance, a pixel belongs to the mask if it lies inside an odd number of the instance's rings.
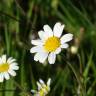
[[[60,37],[62,35],[64,29],[64,25],[61,25],[61,23],[56,23],[53,28],[54,36]]]

